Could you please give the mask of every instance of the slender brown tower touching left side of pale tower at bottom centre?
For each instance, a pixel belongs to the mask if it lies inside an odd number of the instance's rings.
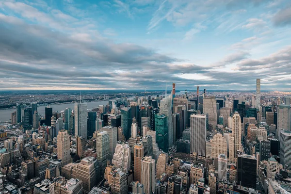
[[[144,157],[144,146],[136,144],[133,148],[134,176],[133,180],[141,182],[141,160]]]

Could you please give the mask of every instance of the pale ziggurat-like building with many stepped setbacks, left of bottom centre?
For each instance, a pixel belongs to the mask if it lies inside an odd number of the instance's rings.
[[[112,163],[122,170],[125,174],[129,172],[131,155],[130,147],[128,144],[123,142],[117,142],[115,147],[115,153],[113,154]]]

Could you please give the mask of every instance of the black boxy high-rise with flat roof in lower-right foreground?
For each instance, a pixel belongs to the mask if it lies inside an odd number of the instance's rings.
[[[251,155],[238,155],[237,184],[243,187],[257,188],[257,160]]]

